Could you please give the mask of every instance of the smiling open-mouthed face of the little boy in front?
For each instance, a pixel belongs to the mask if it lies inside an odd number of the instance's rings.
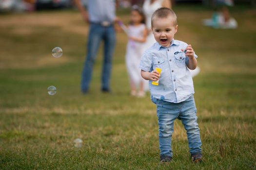
[[[177,25],[174,25],[172,16],[153,19],[152,31],[156,41],[163,47],[169,47],[177,33]]]

